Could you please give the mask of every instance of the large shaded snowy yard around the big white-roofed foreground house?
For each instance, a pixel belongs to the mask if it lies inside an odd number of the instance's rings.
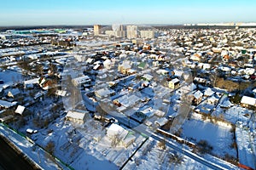
[[[101,122],[89,118],[84,124],[76,124],[59,118],[48,129],[33,134],[32,139],[43,146],[53,141],[54,155],[75,169],[119,169],[144,140],[138,133],[134,135],[135,142],[127,148],[113,147]]]

